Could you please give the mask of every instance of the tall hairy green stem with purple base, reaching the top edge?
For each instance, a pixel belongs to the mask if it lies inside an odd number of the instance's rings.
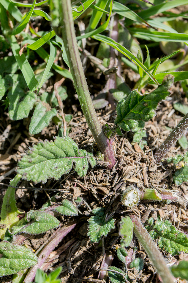
[[[97,113],[94,109],[86,78],[83,72],[78,45],[75,37],[75,28],[72,18],[72,10],[70,0],[61,0],[61,33],[64,46],[66,48],[67,57],[70,64],[70,71],[73,77],[78,99],[84,116],[94,136],[99,150],[104,154],[105,161],[108,162],[108,168],[111,169],[115,164],[115,156],[112,147],[112,141],[105,136]]]

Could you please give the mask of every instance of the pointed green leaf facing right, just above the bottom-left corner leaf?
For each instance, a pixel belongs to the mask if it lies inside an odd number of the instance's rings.
[[[40,210],[31,210],[27,212],[25,215],[25,220],[27,222],[33,220],[33,222],[27,224],[23,228],[21,227],[18,233],[38,235],[45,233],[51,229],[57,228],[61,225],[56,217]]]

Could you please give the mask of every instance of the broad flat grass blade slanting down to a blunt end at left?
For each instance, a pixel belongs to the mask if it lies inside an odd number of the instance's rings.
[[[10,42],[12,52],[15,56],[15,59],[18,63],[18,66],[20,67],[20,70],[26,80],[26,83],[30,89],[30,91],[34,91],[37,89],[37,86],[39,85],[37,79],[35,78],[33,69],[31,68],[28,60],[26,59],[25,55],[22,54],[19,55],[20,46],[16,41],[16,38],[14,35],[7,36],[8,41]]]

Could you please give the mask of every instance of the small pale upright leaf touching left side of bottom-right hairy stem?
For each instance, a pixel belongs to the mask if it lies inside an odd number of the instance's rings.
[[[121,240],[121,245],[128,247],[133,237],[133,223],[130,217],[123,217],[120,222],[119,235],[123,237]]]

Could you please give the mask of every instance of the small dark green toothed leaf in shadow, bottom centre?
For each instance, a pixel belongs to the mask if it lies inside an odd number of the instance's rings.
[[[111,229],[114,229],[114,219],[110,217],[105,221],[106,213],[104,207],[98,207],[92,211],[94,216],[88,220],[89,231],[88,236],[92,243],[99,242],[102,236],[107,236]]]

